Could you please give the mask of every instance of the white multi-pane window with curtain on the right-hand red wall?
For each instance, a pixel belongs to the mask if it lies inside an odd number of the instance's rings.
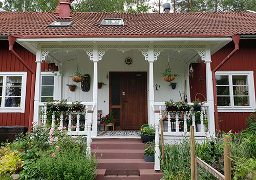
[[[216,73],[218,108],[248,109],[254,106],[253,72],[220,71]]]

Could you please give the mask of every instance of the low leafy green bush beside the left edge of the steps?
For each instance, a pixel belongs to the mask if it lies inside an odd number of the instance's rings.
[[[94,179],[97,167],[95,158],[87,156],[79,148],[60,148],[48,152],[40,152],[40,159],[35,163],[41,170],[44,179]]]

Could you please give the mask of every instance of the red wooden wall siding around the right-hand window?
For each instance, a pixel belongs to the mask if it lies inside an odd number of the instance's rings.
[[[239,50],[234,54],[220,69],[219,71],[236,71],[236,70],[254,70],[256,69],[256,40],[240,40]],[[211,56],[211,69],[214,69],[226,56],[228,56],[234,49],[234,43],[231,41],[214,55]],[[205,82],[205,63],[193,64],[194,78],[189,76],[190,95],[191,100],[194,100],[195,95],[200,92],[206,94]],[[197,72],[198,71],[198,72]],[[201,74],[204,81],[199,82],[198,78]],[[256,73],[254,75],[254,87],[256,87]],[[203,88],[201,89],[200,86]],[[191,88],[193,87],[193,88]],[[198,96],[197,96],[198,97]],[[200,98],[201,99],[201,98]],[[239,132],[246,127],[245,119],[250,116],[250,113],[218,113],[220,118],[221,130],[228,132],[230,130]]]

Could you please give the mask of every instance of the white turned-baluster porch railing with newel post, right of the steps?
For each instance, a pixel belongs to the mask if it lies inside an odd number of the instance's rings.
[[[188,103],[189,105],[193,105],[193,103]],[[175,112],[175,123],[171,123],[171,116],[170,116],[170,112],[168,113],[167,116],[167,131],[163,132],[163,136],[168,136],[168,137],[174,137],[174,139],[176,139],[175,137],[181,137],[181,136],[190,136],[190,132],[188,132],[188,128],[187,128],[187,121],[191,120],[192,121],[192,125],[195,127],[195,136],[198,137],[206,137],[206,131],[205,131],[205,126],[204,126],[204,115],[206,120],[209,119],[208,117],[208,108],[209,108],[209,104],[208,103],[204,103],[203,107],[201,109],[200,112],[200,131],[196,132],[196,119],[195,119],[195,113],[196,112],[191,112],[191,111],[186,111],[183,112],[184,116],[183,116],[183,122],[184,122],[184,126],[183,126],[183,131],[180,130],[179,124],[181,122],[181,120],[179,120],[179,114],[178,112]],[[155,170],[160,170],[160,150],[159,150],[159,134],[161,134],[161,128],[159,127],[160,124],[160,120],[162,119],[162,111],[165,111],[165,104],[164,102],[155,102],[154,105],[151,104],[151,110],[154,112],[154,116],[155,116],[155,127],[156,127],[156,137],[155,137],[155,143],[156,143],[156,147],[155,147]],[[191,115],[191,116],[190,116]],[[189,119],[189,117],[191,117],[191,119]],[[172,131],[173,130],[173,131]]]

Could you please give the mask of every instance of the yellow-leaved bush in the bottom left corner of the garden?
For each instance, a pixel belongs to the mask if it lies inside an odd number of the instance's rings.
[[[19,172],[22,168],[23,162],[21,162],[18,151],[16,149],[11,150],[10,144],[1,146],[0,148],[0,174]]]

